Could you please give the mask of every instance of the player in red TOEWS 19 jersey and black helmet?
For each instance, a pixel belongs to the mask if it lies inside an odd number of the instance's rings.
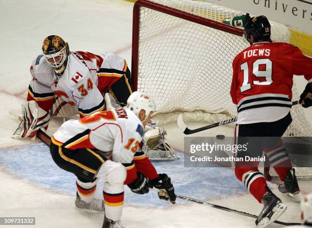
[[[312,105],[312,59],[300,49],[287,43],[272,43],[271,27],[265,16],[250,18],[245,25],[245,37],[250,46],[233,60],[233,78],[230,95],[238,108],[236,136],[238,144],[249,146],[253,156],[263,151],[283,184],[282,193],[290,193],[299,201],[299,187],[288,154],[280,137],[292,122],[293,74],[304,75],[308,81],[300,96],[300,104]],[[255,137],[267,137],[258,140]],[[243,157],[243,153],[238,153]],[[264,204],[256,224],[266,227],[286,209],[281,200],[268,188],[258,163],[237,163],[235,173],[249,192]]]

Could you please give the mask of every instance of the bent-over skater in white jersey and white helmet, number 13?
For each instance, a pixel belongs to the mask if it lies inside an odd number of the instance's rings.
[[[105,180],[103,227],[124,227],[120,222],[124,184],[135,193],[150,187],[162,189],[161,199],[175,203],[174,188],[167,174],[158,174],[142,151],[137,151],[143,127],[155,111],[153,100],[132,93],[123,109],[100,111],[80,120],[68,120],[51,138],[50,151],[56,164],[77,176],[77,208],[101,211],[93,198],[99,179]]]

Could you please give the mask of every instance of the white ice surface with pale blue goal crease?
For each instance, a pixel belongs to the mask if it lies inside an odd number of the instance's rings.
[[[0,217],[36,217],[35,226],[23,227],[101,227],[102,213],[74,208],[75,178],[53,163],[45,145],[39,140],[11,139],[18,122],[9,111],[20,113],[31,61],[48,35],[60,35],[72,50],[113,52],[131,66],[132,8],[132,3],[120,0],[0,0]],[[305,85],[301,82],[299,91]],[[61,122],[53,120],[48,134]],[[166,130],[170,143],[183,150],[184,136],[176,124],[168,124]],[[218,131],[231,134],[226,128],[209,134]],[[159,172],[171,176],[178,193],[249,213],[261,210],[231,169],[184,168],[184,156],[178,156],[179,161],[154,162]],[[101,197],[102,184],[98,184],[97,197]],[[309,182],[300,185],[304,193],[311,191]],[[254,227],[252,218],[181,200],[170,205],[154,192],[135,195],[125,187],[125,195],[122,220],[126,227]],[[289,200],[285,203],[289,210],[282,219],[299,221],[299,206]]]

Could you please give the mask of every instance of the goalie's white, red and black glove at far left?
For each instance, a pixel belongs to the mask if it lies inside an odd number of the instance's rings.
[[[18,128],[12,135],[13,139],[32,138],[35,139],[40,128],[47,128],[50,115],[41,109],[35,100],[22,104],[22,117]]]

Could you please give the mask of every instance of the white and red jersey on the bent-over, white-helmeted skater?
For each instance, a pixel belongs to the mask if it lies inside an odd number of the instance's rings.
[[[51,141],[68,149],[89,148],[100,150],[127,170],[127,183],[137,179],[137,171],[147,178],[158,174],[142,151],[137,151],[143,137],[143,125],[128,109],[95,112],[79,120],[64,122]]]

